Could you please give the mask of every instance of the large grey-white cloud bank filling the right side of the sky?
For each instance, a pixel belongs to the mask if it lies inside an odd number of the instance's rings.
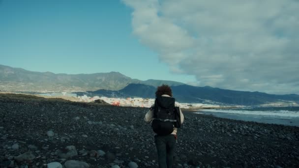
[[[298,0],[123,0],[133,33],[201,86],[299,94]]]

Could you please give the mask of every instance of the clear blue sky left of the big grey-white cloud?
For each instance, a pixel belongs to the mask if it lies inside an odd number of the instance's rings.
[[[132,34],[132,9],[119,0],[2,0],[0,64],[30,71],[117,71],[140,80],[194,81],[169,71]]]

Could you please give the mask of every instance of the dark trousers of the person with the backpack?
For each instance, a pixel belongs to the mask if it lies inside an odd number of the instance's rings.
[[[172,168],[176,146],[175,136],[173,134],[166,136],[156,135],[155,143],[158,151],[159,168]]]

